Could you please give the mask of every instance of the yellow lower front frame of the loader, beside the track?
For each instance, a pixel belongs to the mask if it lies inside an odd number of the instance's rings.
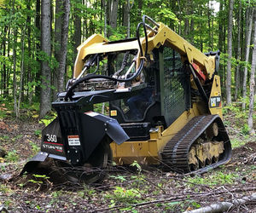
[[[189,123],[189,120],[199,115],[196,105],[189,111],[185,111],[166,130],[161,126],[150,131],[148,141],[125,141],[118,145],[111,143],[113,160],[116,164],[132,164],[134,160],[142,164],[160,164],[160,152],[166,143],[177,134],[179,130]]]

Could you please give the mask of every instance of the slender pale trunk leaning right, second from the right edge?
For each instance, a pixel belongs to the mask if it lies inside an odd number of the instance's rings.
[[[247,43],[246,43],[246,54],[245,61],[248,63],[249,61],[249,53],[250,53],[250,43],[251,43],[251,35],[252,35],[252,26],[253,26],[253,9],[252,12],[249,12],[248,20],[249,25],[247,26]],[[247,96],[247,65],[244,67],[243,72],[243,81],[242,81],[242,103],[241,108],[245,110],[246,108],[246,96]]]

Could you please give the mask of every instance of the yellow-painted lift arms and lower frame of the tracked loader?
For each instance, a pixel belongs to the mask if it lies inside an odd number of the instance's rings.
[[[145,38],[141,38],[143,51],[145,51]],[[177,50],[182,56],[182,60],[188,60],[190,64],[195,63],[207,79],[211,79],[215,72],[215,56],[207,56],[201,53],[193,45],[187,42],[183,37],[177,35],[168,26],[160,23],[157,33],[148,32],[148,52],[154,48],[166,45]],[[114,51],[122,51],[128,49],[138,49],[137,41],[125,43],[108,43],[108,39],[101,35],[93,35],[82,43],[79,48],[79,54],[74,66],[73,78],[77,78],[82,72],[84,66],[83,59],[86,55],[108,53]],[[140,60],[140,59],[137,59]],[[137,63],[138,64],[138,63]],[[214,75],[212,83],[211,97],[221,98],[220,78]],[[195,85],[194,79],[191,77],[192,86]],[[196,86],[194,86],[196,88]],[[210,105],[210,103],[209,103]],[[183,112],[175,122],[173,122],[166,130],[162,126],[158,126],[154,131],[151,131],[150,139],[147,141],[125,141],[118,145],[115,142],[111,143],[113,160],[116,164],[132,164],[134,160],[141,164],[160,164],[161,155],[166,143],[177,134],[179,130],[189,123],[191,118],[203,114],[218,114],[222,118],[222,108],[205,107],[202,101],[196,101],[189,111]]]

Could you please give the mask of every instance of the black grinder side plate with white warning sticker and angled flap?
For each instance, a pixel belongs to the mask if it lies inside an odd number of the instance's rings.
[[[84,164],[98,144],[108,135],[120,144],[129,139],[118,122],[97,112],[58,112],[61,136],[71,164]]]

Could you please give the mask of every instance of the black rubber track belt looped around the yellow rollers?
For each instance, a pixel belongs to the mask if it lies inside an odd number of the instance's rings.
[[[218,124],[217,141],[224,141],[224,153],[222,153],[218,162],[207,165],[199,170],[191,171],[189,168],[189,149],[200,135],[207,130],[207,127],[216,122]],[[179,173],[201,174],[227,163],[231,158],[230,138],[224,128],[224,124],[218,115],[203,115],[192,118],[182,130],[168,141],[166,147],[161,153],[162,164],[165,170],[175,170]]]

